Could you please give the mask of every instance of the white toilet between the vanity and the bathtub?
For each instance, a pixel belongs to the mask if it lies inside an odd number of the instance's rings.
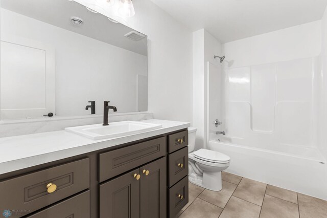
[[[203,188],[220,191],[221,171],[229,166],[230,158],[220,152],[199,149],[194,151],[196,130],[189,127],[189,181]]]

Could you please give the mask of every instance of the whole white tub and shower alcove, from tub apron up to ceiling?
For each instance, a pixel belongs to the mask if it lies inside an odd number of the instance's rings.
[[[224,71],[207,63],[207,148],[228,172],[327,200],[321,23],[224,44]]]

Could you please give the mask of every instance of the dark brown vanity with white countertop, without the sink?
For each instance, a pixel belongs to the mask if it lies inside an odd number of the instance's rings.
[[[0,209],[17,217],[174,217],[189,200],[190,124],[144,122],[162,127],[96,141],[65,131],[1,138],[11,160],[0,163]]]

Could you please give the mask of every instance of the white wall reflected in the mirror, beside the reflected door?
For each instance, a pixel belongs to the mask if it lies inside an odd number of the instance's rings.
[[[137,111],[137,75],[147,75],[146,56],[6,9],[1,21],[2,37],[29,38],[55,49],[57,116],[90,114],[88,101],[96,101],[97,114],[105,100],[119,112]]]

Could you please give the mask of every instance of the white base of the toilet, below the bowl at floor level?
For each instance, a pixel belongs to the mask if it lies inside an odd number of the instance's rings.
[[[221,172],[203,172],[202,176],[191,173],[189,175],[189,181],[212,191],[220,191],[222,189]]]

